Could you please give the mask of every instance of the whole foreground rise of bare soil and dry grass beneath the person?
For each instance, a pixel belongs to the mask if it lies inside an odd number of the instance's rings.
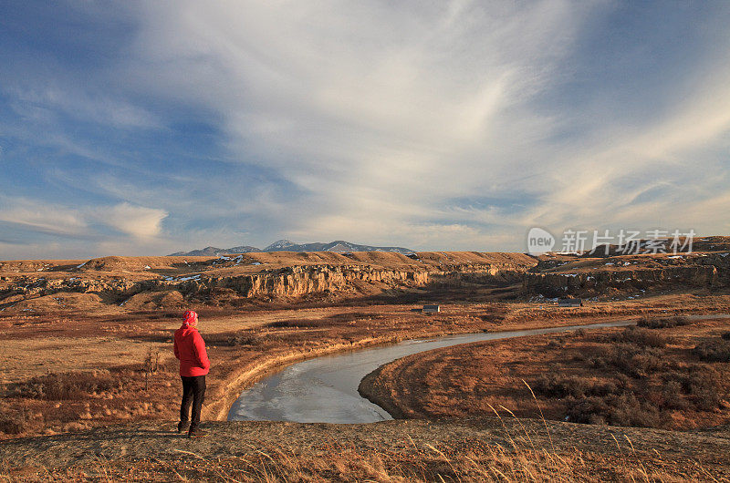
[[[468,426],[208,423],[212,436],[193,441],[149,424],[116,426],[8,442],[0,446],[0,481],[648,483],[730,476],[725,437],[549,423],[522,384],[539,419],[491,407],[494,417]],[[33,451],[43,453],[42,464]]]

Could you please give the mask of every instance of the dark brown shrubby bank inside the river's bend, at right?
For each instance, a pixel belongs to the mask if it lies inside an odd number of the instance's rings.
[[[360,394],[397,418],[474,417],[506,407],[517,417],[591,424],[686,430],[730,423],[727,315],[639,324],[410,355],[366,375]]]

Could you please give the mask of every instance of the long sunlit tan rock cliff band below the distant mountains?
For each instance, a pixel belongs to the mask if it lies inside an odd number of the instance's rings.
[[[5,262],[0,267],[0,311],[73,308],[93,294],[110,306],[151,309],[185,298],[235,302],[256,297],[302,297],[312,293],[351,296],[422,287],[436,277],[463,282],[519,280],[535,261],[521,254],[470,252],[341,256],[301,253],[306,263],[276,265],[271,258],[219,257],[160,261],[104,257],[87,262]],[[267,255],[261,255],[267,256]],[[334,257],[334,258],[333,258]],[[201,259],[203,257],[200,257]],[[17,305],[17,306],[16,306]],[[15,307],[15,308],[14,308]]]

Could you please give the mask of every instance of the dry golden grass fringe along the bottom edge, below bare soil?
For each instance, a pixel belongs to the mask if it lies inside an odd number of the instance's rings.
[[[243,443],[247,447],[243,457],[213,457],[203,450],[176,448],[133,461],[98,457],[92,464],[60,468],[13,468],[5,460],[0,481],[726,481],[727,468],[697,461],[676,465],[671,459],[664,461],[659,452],[638,452],[625,435],[611,435],[615,447],[605,452],[579,447],[578,442],[567,448],[565,441],[556,449],[547,422],[543,421],[546,434],[535,442],[534,430],[514,415],[496,410],[495,415],[502,421],[506,443],[471,439],[432,444],[407,437],[402,446],[339,442],[302,448],[255,440]]]

